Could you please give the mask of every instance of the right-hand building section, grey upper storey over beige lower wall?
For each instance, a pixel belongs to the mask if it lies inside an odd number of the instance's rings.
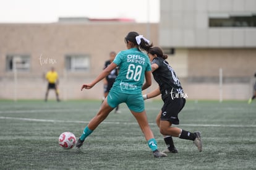
[[[256,1],[161,0],[160,6],[159,43],[188,96],[248,99],[256,72]]]

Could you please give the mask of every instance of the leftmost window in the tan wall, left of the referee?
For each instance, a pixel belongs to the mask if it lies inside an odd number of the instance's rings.
[[[6,70],[28,71],[30,69],[30,56],[24,54],[14,54],[6,56]]]

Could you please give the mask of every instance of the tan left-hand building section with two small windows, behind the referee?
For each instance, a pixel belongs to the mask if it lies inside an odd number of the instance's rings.
[[[109,59],[109,52],[126,49],[130,31],[147,36],[157,45],[158,24],[129,19],[61,18],[56,23],[0,23],[0,98],[42,99],[45,74],[55,67],[61,100],[100,99],[103,84],[80,91]],[[54,91],[49,91],[49,99]]]

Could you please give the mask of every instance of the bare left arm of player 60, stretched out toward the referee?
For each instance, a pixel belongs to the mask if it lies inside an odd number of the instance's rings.
[[[83,84],[82,87],[81,87],[81,91],[83,90],[83,88],[85,89],[90,89],[92,88],[93,86],[96,85],[96,83],[100,82],[100,80],[104,79],[107,75],[110,74],[110,72],[116,68],[116,64],[114,64],[114,62],[111,62],[111,64],[109,64],[108,67],[106,67],[106,69],[104,69],[100,75],[98,75],[98,77],[96,77],[95,80],[93,80],[91,83],[88,83],[88,84]]]

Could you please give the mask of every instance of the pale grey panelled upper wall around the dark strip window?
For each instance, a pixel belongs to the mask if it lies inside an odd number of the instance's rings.
[[[255,27],[208,26],[211,15],[255,14],[254,0],[161,0],[160,7],[160,45],[163,47],[256,47]]]

